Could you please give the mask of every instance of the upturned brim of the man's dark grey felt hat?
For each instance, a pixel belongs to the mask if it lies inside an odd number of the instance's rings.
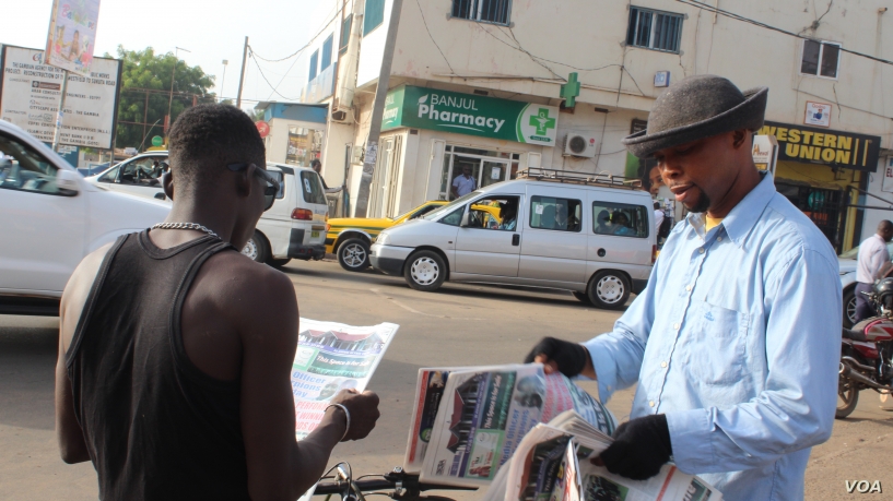
[[[627,135],[621,143],[639,158],[680,144],[691,143],[739,129],[755,131],[763,127],[768,99],[768,87],[744,91],[744,102],[707,120],[649,134],[648,130]]]

